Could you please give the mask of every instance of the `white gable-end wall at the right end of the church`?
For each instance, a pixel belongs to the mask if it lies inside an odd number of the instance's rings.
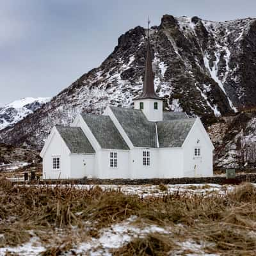
[[[184,176],[209,177],[212,170],[212,144],[200,120],[196,120],[186,141],[184,141]],[[200,148],[200,157],[195,156],[195,148]]]

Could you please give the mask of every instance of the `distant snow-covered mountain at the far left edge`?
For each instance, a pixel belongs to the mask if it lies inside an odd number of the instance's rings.
[[[17,122],[32,114],[51,98],[24,98],[0,108],[0,130],[12,127]]]

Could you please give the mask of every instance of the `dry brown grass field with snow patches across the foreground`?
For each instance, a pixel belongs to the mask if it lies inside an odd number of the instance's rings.
[[[0,255],[255,255],[253,184],[156,190],[127,195],[1,179]]]

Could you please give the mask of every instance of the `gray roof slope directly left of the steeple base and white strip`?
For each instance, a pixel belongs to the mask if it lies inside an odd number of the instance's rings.
[[[156,123],[140,109],[110,107],[134,147],[156,147]]]

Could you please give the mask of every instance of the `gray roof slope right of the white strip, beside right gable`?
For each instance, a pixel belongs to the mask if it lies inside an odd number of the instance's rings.
[[[181,147],[196,118],[157,122],[159,147]]]

